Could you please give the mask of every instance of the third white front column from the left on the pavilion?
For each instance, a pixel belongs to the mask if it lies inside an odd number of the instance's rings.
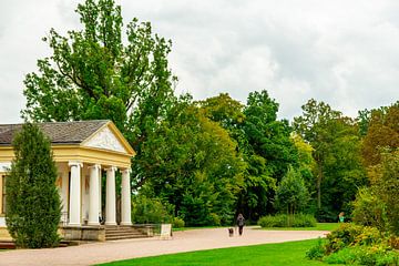
[[[105,224],[116,225],[116,193],[115,193],[116,167],[106,170],[106,198],[105,198]]]

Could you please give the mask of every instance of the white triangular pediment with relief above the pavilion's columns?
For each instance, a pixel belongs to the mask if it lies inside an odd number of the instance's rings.
[[[125,144],[123,143],[123,140],[121,140],[121,136],[116,135],[115,132],[108,125],[100,129],[82,144],[83,146],[88,147],[129,154],[129,151],[126,151]]]

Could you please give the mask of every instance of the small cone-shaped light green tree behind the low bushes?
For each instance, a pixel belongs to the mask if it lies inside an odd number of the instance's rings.
[[[300,173],[289,166],[287,174],[283,177],[276,191],[276,208],[279,212],[294,215],[305,208],[308,200],[309,194]]]

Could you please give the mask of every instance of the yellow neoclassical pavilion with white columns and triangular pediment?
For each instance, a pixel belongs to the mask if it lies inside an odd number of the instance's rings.
[[[0,125],[0,227],[4,227],[4,182],[14,157],[12,137],[21,124]],[[39,124],[51,140],[62,200],[62,223],[68,227],[116,225],[115,173],[122,175],[120,224],[131,225],[130,168],[134,151],[111,121]],[[102,186],[102,174],[106,184]],[[105,190],[105,209],[102,209]]]

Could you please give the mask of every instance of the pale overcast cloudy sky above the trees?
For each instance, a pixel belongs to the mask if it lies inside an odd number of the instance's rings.
[[[24,75],[51,54],[41,38],[78,29],[78,2],[0,0],[0,123],[21,121]],[[116,2],[173,41],[177,91],[195,99],[266,89],[287,119],[310,98],[350,116],[399,100],[397,0]]]

